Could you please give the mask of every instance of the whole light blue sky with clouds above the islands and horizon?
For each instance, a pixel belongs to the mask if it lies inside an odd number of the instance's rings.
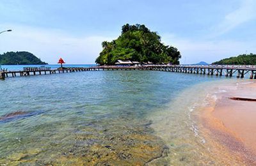
[[[26,50],[55,64],[92,64],[101,42],[145,24],[177,47],[181,63],[256,53],[255,0],[1,0],[0,54]]]

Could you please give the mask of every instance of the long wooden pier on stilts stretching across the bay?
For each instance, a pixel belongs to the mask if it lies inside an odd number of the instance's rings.
[[[237,78],[248,77],[256,79],[256,66],[234,66],[234,65],[164,65],[164,64],[150,64],[142,66],[92,66],[89,68],[57,68],[51,69],[49,67],[28,67],[21,71],[0,71],[0,79],[6,77],[24,77],[29,75],[47,75],[56,73],[72,73],[72,72],[86,72],[86,71],[113,71],[113,70],[156,70],[162,72],[180,72],[180,73],[194,73],[200,75],[216,75],[216,77],[226,76]]]

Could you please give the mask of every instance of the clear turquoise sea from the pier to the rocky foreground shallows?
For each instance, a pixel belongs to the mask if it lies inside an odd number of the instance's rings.
[[[152,115],[161,115],[189,87],[218,80],[156,71],[76,72],[2,80],[0,164],[168,164],[163,157],[172,154],[172,149],[152,127],[156,120]],[[184,103],[176,101],[175,107],[179,105]],[[175,107],[172,118],[184,123],[186,110]],[[12,112],[21,113],[6,118]],[[168,126],[173,137],[180,130],[188,137],[194,135],[174,122]]]

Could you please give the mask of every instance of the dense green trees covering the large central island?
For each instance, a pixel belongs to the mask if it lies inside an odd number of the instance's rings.
[[[126,24],[122,34],[111,42],[102,42],[103,50],[95,63],[115,64],[117,60],[131,60],[140,63],[179,64],[180,52],[172,46],[164,45],[161,37],[146,26]]]

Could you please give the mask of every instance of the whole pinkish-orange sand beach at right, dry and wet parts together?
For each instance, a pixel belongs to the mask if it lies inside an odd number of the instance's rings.
[[[256,98],[256,82],[215,87],[211,107],[205,107],[203,126],[210,137],[245,165],[256,165],[256,102],[231,100]],[[212,94],[213,95],[213,94]]]

